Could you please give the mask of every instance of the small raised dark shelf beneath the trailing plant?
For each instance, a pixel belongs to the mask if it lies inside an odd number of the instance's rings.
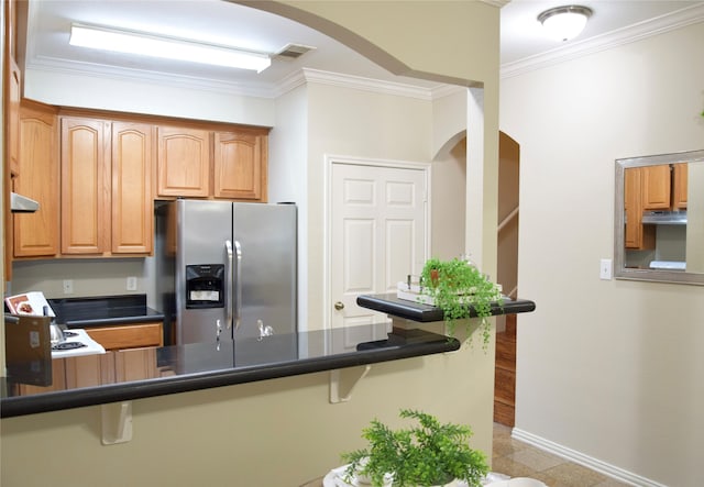
[[[362,308],[424,323],[443,320],[443,313],[440,308],[400,299],[395,292],[359,296],[356,303]],[[527,313],[535,311],[535,309],[536,303],[534,301],[506,298],[503,306],[498,302],[492,306],[492,314]],[[470,316],[476,317],[476,312],[472,309],[470,310]]]

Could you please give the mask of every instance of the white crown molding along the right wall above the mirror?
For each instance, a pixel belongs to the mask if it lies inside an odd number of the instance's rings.
[[[570,43],[564,47],[547,51],[542,54],[529,56],[514,63],[503,64],[501,66],[501,78],[504,79],[519,76],[536,69],[546,68],[570,59],[618,47],[624,44],[663,34],[666,32],[703,21],[704,3],[688,7],[656,19],[609,32],[608,34],[598,35],[581,42]]]

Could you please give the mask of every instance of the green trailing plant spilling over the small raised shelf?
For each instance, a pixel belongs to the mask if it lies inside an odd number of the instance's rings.
[[[453,258],[430,258],[420,275],[421,294],[430,296],[442,310],[450,336],[454,335],[457,320],[470,318],[474,309],[481,320],[484,347],[491,339],[492,305],[503,307],[501,288],[488,280],[472,263]],[[469,323],[468,323],[469,326]]]

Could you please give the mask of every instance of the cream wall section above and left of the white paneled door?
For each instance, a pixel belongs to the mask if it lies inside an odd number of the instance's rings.
[[[326,155],[428,162],[430,101],[388,97],[327,85],[308,85],[308,324],[327,328],[332,302],[327,296],[323,259],[329,171]],[[372,107],[381,108],[373,109]]]

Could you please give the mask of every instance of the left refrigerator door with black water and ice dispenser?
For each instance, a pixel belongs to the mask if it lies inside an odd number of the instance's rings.
[[[232,340],[229,243],[232,203],[178,200],[176,343]]]

